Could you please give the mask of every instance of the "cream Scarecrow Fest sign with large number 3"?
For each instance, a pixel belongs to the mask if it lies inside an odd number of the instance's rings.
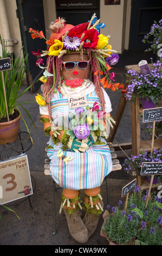
[[[0,204],[33,194],[27,155],[0,162]]]

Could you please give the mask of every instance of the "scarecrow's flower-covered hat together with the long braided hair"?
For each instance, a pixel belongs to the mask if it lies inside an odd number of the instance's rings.
[[[43,56],[47,58],[47,66],[43,73],[44,90],[43,97],[47,97],[46,101],[50,102],[50,92],[55,88],[59,88],[61,84],[60,70],[62,69],[62,56],[64,54],[83,53],[88,54],[92,71],[92,81],[96,87],[96,93],[104,106],[104,99],[101,87],[112,90],[123,89],[123,85],[115,83],[115,73],[111,72],[111,65],[118,62],[119,56],[112,46],[109,44],[109,37],[100,34],[100,29],[105,24],[100,23],[94,14],[89,22],[81,23],[77,26],[66,24],[63,18],[50,23],[49,28],[52,33],[50,39],[47,40],[43,32],[35,31],[30,28],[29,32],[33,39],[43,38],[46,40],[48,48],[46,51],[32,52],[36,57],[37,66],[44,68]],[[101,76],[103,76],[101,78]],[[42,78],[41,78],[42,79]]]

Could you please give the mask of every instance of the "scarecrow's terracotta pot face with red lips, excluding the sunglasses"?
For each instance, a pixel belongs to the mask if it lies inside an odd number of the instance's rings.
[[[80,53],[67,54],[62,57],[63,62],[80,62],[81,60],[89,60],[87,54],[83,54],[83,59],[80,56]],[[62,64],[62,70],[60,72],[61,76],[63,76],[64,80],[75,80],[75,79],[88,79],[90,75],[90,63],[87,69],[79,69],[77,65],[72,70],[67,70],[64,68]]]

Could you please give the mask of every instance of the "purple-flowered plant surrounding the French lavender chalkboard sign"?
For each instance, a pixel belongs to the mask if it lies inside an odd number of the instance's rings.
[[[131,173],[131,175],[140,175],[142,162],[162,162],[162,148],[158,150],[153,149],[152,156],[146,150],[143,150],[138,156],[131,155],[131,157],[125,159],[122,168],[125,172]],[[150,177],[147,177],[146,180],[149,182]],[[154,176],[153,184],[160,183],[161,181],[161,175]]]

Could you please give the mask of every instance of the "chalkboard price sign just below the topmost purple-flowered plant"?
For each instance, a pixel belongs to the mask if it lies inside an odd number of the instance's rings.
[[[143,123],[162,120],[162,107],[143,110]]]

